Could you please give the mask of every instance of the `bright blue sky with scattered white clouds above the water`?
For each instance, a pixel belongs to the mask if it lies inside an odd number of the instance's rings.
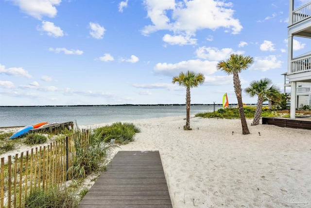
[[[237,103],[232,76],[216,70],[231,53],[255,60],[242,88],[269,77],[283,90],[288,9],[289,0],[0,0],[0,105],[182,104],[172,77],[187,70],[206,77],[191,103],[225,93]],[[310,48],[294,38],[294,56]]]

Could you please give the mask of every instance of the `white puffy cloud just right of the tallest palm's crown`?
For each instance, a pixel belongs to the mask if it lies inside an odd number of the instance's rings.
[[[278,69],[282,67],[282,61],[277,60],[276,56],[269,56],[269,57],[255,57],[254,64],[250,67],[251,70],[260,70],[260,71],[267,71],[270,69]]]

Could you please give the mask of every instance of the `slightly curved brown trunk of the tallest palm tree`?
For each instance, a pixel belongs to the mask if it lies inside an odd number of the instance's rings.
[[[238,99],[239,104],[239,113],[241,118],[242,124],[242,134],[249,134],[249,130],[246,123],[246,118],[244,114],[243,102],[242,102],[242,88],[241,88],[241,81],[239,78],[239,74],[237,72],[233,73],[233,85],[234,85],[234,92]]]

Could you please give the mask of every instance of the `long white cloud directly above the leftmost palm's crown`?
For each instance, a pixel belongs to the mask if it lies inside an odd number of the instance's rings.
[[[157,63],[154,67],[155,74],[165,76],[178,76],[180,72],[186,73],[188,70],[204,75],[214,74],[217,61],[202,61],[200,59],[181,61],[178,63]]]

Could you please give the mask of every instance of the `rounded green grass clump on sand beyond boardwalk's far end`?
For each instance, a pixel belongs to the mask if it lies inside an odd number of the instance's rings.
[[[96,129],[95,137],[104,142],[115,139],[115,143],[126,144],[134,141],[135,133],[140,130],[133,123],[113,123],[111,126],[104,126]]]

